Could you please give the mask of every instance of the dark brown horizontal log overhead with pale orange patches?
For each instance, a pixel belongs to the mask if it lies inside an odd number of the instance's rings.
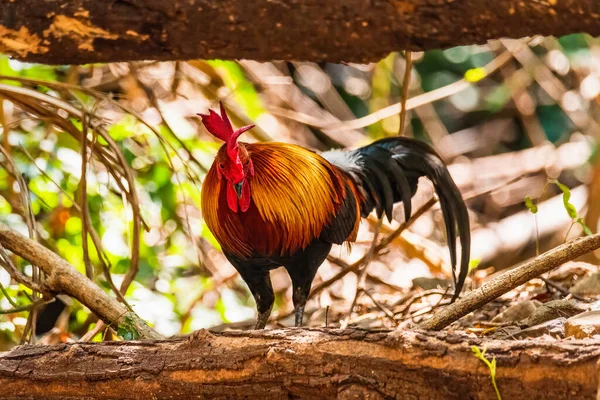
[[[597,0],[0,0],[0,52],[50,64],[371,62],[502,37],[600,35]]]

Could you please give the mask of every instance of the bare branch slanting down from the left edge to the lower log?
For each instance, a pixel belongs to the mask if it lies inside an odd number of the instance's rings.
[[[134,312],[109,297],[91,280],[79,273],[71,264],[39,243],[0,223],[0,244],[39,268],[46,275],[45,286],[55,293],[65,293],[79,300],[107,325],[126,325],[141,338],[160,339]]]

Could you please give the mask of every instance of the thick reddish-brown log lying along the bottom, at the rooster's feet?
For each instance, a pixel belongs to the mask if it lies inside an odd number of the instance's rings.
[[[193,339],[21,346],[0,399],[495,399],[483,340],[452,333],[287,329]],[[506,399],[594,399],[600,341],[486,341]]]

